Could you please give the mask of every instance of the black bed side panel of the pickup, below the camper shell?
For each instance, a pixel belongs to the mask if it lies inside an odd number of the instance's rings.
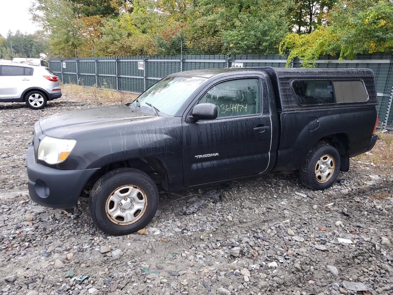
[[[274,171],[297,170],[312,146],[324,136],[343,133],[349,140],[349,156],[367,151],[376,120],[374,105],[307,109],[279,114],[281,121],[278,161]],[[309,118],[318,118],[320,127],[310,130]]]

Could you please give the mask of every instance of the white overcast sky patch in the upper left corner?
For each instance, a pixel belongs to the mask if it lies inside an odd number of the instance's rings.
[[[22,33],[34,33],[39,26],[31,20],[29,7],[32,0],[0,0],[0,34],[7,36],[8,30],[13,33],[20,30]]]

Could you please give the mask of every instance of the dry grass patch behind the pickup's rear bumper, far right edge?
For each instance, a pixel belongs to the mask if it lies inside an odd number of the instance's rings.
[[[379,166],[393,165],[393,135],[387,132],[378,131],[378,140],[374,148],[368,153],[354,157],[354,160],[373,163]]]

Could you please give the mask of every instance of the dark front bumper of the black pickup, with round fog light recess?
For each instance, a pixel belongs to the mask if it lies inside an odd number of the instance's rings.
[[[42,206],[58,209],[74,208],[84,185],[98,170],[59,170],[38,164],[32,144],[27,150],[26,166],[31,199]]]

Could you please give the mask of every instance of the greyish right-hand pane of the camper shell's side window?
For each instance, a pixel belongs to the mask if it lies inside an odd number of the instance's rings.
[[[337,103],[362,102],[368,100],[362,81],[333,81]]]

